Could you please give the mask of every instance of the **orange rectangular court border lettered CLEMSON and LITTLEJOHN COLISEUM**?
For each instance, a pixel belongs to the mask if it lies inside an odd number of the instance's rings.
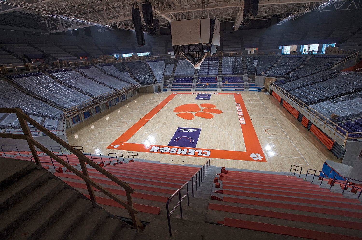
[[[235,150],[220,150],[220,149],[205,149],[205,148],[181,148],[165,145],[149,145],[139,143],[127,143],[127,141],[140,130],[150,119],[155,116],[165,105],[168,104],[178,94],[205,94],[200,92],[193,93],[179,93],[174,92],[163,100],[159,105],[148,112],[143,118],[131,126],[125,133],[117,138],[108,149],[150,152],[160,154],[171,154],[177,156],[192,156],[192,157],[206,157],[206,158],[219,158],[219,159],[231,159],[241,161],[254,161],[254,162],[266,162],[264,153],[261,149],[260,142],[254,130],[253,124],[249,117],[248,111],[245,107],[243,98],[240,93],[207,93],[217,95],[233,95],[235,99],[235,108],[239,116],[239,122],[241,131],[244,137],[246,151]],[[164,148],[167,151],[164,151]]]

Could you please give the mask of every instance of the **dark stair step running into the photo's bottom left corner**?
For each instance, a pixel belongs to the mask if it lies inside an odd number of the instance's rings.
[[[8,237],[63,188],[64,183],[62,181],[50,179],[1,214],[0,239]]]

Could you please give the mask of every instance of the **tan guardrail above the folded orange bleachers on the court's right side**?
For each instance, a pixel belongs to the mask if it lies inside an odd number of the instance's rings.
[[[345,134],[341,131],[337,130],[337,124],[332,121],[332,119],[328,119],[327,117],[323,116],[319,112],[317,112],[315,109],[311,108],[309,105],[305,104],[304,102],[300,101],[293,95],[291,95],[289,92],[283,90],[281,87],[275,85],[274,83],[270,83],[269,87],[275,88],[277,91],[282,93],[282,95],[292,102],[294,102],[295,105],[297,105],[296,110],[298,112],[302,113],[305,117],[310,117],[312,121],[318,122],[321,125],[323,125],[323,129],[329,128],[331,132],[333,132],[333,137],[336,137],[343,141],[342,147],[345,146],[347,139],[361,139],[362,138],[355,138],[350,136],[351,134],[362,134],[362,132],[346,132]]]

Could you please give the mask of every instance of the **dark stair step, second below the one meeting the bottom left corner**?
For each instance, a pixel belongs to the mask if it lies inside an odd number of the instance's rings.
[[[73,231],[76,225],[92,208],[92,202],[83,198],[77,199],[65,210],[56,221],[38,238],[38,240],[63,240]]]

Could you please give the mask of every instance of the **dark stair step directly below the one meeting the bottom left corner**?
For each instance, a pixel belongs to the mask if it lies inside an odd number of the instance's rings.
[[[10,239],[30,240],[37,239],[64,210],[77,199],[79,193],[70,189],[63,189],[58,195],[52,198],[47,204],[31,216],[24,224],[17,228]],[[26,235],[24,234],[26,232]]]

